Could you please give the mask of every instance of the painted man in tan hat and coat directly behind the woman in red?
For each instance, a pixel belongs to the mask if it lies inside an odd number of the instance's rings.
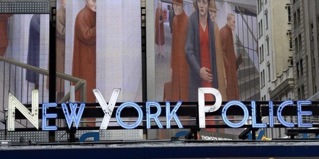
[[[210,19],[214,22],[214,35],[215,35],[215,49],[216,49],[216,64],[217,64],[217,73],[218,73],[218,91],[221,94],[223,100],[227,100],[227,81],[226,81],[226,72],[225,72],[225,65],[223,58],[226,56],[223,54],[221,50],[221,43],[220,43],[220,35],[219,35],[219,27],[216,23],[216,16],[217,16],[217,8],[215,0],[210,0],[209,5],[209,15]]]

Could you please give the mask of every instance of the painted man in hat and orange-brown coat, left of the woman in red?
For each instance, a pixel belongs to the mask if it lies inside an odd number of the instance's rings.
[[[173,0],[175,17],[173,20],[171,75],[172,101],[188,101],[189,66],[185,57],[185,42],[188,16],[183,11],[183,1]]]

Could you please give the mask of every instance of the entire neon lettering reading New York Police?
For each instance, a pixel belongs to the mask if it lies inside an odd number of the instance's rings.
[[[104,112],[104,118],[100,127],[100,130],[106,130],[108,127],[108,124],[110,122],[110,118],[113,112],[113,109],[115,107],[116,100],[119,96],[120,89],[114,89],[111,98],[109,100],[109,103],[105,101],[103,98],[100,90],[95,89],[93,90],[94,96],[97,98],[98,102],[101,105],[101,108]],[[211,94],[215,97],[215,103],[214,105],[205,105],[205,94]],[[205,126],[205,113],[206,112],[214,112],[218,110],[221,106],[221,94],[218,90],[213,88],[199,88],[198,91],[198,105],[199,105],[199,128],[206,128]],[[166,129],[171,128],[171,121],[174,118],[174,121],[178,128],[183,128],[183,125],[181,124],[178,116],[177,111],[178,108],[181,106],[182,101],[178,101],[177,104],[173,107],[172,110],[170,110],[171,105],[170,102],[166,102]],[[311,128],[312,124],[310,123],[302,123],[302,116],[312,115],[311,111],[302,111],[302,105],[309,105],[311,104],[311,101],[297,101],[297,125],[301,128]],[[73,123],[75,123],[76,128],[78,128],[81,116],[83,114],[84,108],[86,103],[61,103],[63,114],[66,117],[66,122],[68,124],[69,129],[71,129],[71,126]],[[245,104],[243,104],[240,101],[229,101],[225,104],[225,106],[222,108],[221,111],[221,117],[222,120],[226,125],[228,125],[231,128],[240,128],[248,120],[249,117],[249,111],[251,111],[251,121],[252,121],[252,128],[267,128],[267,123],[257,123],[257,112],[256,112],[256,102],[251,101],[251,110],[248,110]],[[269,101],[269,127],[274,127],[274,110],[273,110],[273,102]],[[293,105],[293,101],[287,100],[282,102],[279,107],[276,110],[277,118],[280,124],[282,124],[285,127],[295,127],[295,123],[288,123],[284,121],[282,118],[281,112],[284,107]],[[48,118],[56,118],[57,114],[55,113],[47,113],[47,109],[50,109],[51,107],[56,107],[57,103],[43,103],[42,104],[42,130],[43,131],[55,131],[57,130],[56,126],[47,126],[47,119]],[[231,106],[239,106],[243,112],[243,118],[239,123],[232,123],[227,118],[227,110]],[[138,112],[138,119],[134,124],[125,124],[121,120],[121,111],[126,107],[133,107]],[[156,112],[151,113],[150,108],[155,107]],[[39,92],[38,90],[33,90],[32,92],[32,101],[31,101],[31,111],[27,109],[15,96],[13,96],[11,93],[9,93],[9,115],[8,115],[8,131],[14,131],[15,130],[15,109],[17,108],[25,117],[26,119],[34,125],[35,128],[39,130],[39,122],[38,122],[38,112],[39,112]],[[70,111],[69,111],[70,110]],[[151,101],[146,102],[146,129],[151,128],[151,119],[155,121],[157,127],[159,129],[164,129],[161,122],[158,120],[158,116],[162,112],[162,107],[158,102]],[[142,108],[134,103],[134,102],[125,102],[122,103],[118,109],[116,110],[116,121],[124,129],[134,129],[138,127],[143,119],[143,111]]]

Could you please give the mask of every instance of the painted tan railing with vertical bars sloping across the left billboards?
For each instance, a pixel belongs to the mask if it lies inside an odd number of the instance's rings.
[[[0,92],[0,94],[2,94],[2,97],[0,97],[0,112],[4,113],[4,108],[5,108],[5,101],[7,101],[6,97],[7,97],[7,93],[11,92],[12,94],[14,94],[16,96],[16,94],[18,95],[18,93],[16,92],[17,90],[17,79],[18,82],[20,82],[21,80],[21,84],[19,84],[18,87],[21,86],[21,92],[19,92],[20,94],[20,101],[22,102],[22,96],[26,96],[26,103],[23,104],[28,104],[28,99],[30,99],[28,96],[28,91],[29,89],[39,89],[39,92],[42,92],[42,103],[44,102],[44,88],[46,87],[46,82],[45,82],[45,78],[44,76],[49,76],[49,71],[42,69],[42,68],[38,68],[32,65],[28,65],[19,61],[15,61],[12,59],[8,59],[5,57],[0,56],[0,61],[3,61],[3,63],[0,63],[0,71],[3,71],[3,81],[2,81],[2,87],[3,87],[3,92]],[[9,68],[8,68],[9,67]],[[18,67],[18,68],[17,68]],[[21,70],[20,70],[21,69]],[[42,87],[40,88],[36,88],[36,86],[34,86],[33,88],[31,87],[32,85],[29,84],[29,82],[27,82],[27,86],[23,87],[23,83],[25,83],[23,81],[23,74],[26,73],[27,71],[33,71],[35,73],[39,74],[39,83],[42,82]],[[17,74],[21,72],[21,74]],[[40,81],[40,74],[42,75],[42,81]],[[72,85],[72,83],[75,84],[75,92],[77,92],[78,90],[80,90],[80,100],[81,102],[85,102],[86,101],[86,81],[84,79],[78,78],[78,77],[74,77],[71,76],[69,74],[65,74],[65,73],[60,73],[60,72],[56,72],[56,77],[60,78],[60,84],[62,80],[65,81],[69,81],[70,82],[70,86]],[[13,81],[14,82],[11,82]],[[1,80],[0,80],[1,82]],[[12,84],[14,83],[14,84]],[[27,91],[22,91],[23,88],[27,89]],[[65,86],[61,86],[61,87],[65,87]],[[0,88],[1,90],[1,88]],[[57,90],[59,91],[59,90]],[[26,95],[25,95],[26,94]],[[41,96],[40,96],[41,97]],[[59,98],[60,100],[58,101],[59,103],[61,102],[67,102],[70,99],[70,91],[68,93],[66,93],[63,97]],[[40,99],[41,100],[41,99]],[[3,114],[1,114],[1,116],[3,116]],[[23,127],[28,127],[28,122],[22,122],[17,121],[19,124],[21,124]]]

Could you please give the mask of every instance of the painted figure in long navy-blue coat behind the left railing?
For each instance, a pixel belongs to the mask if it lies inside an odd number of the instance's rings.
[[[30,21],[27,64],[40,67],[40,14],[34,14]],[[39,73],[27,70],[25,78],[39,88]]]

